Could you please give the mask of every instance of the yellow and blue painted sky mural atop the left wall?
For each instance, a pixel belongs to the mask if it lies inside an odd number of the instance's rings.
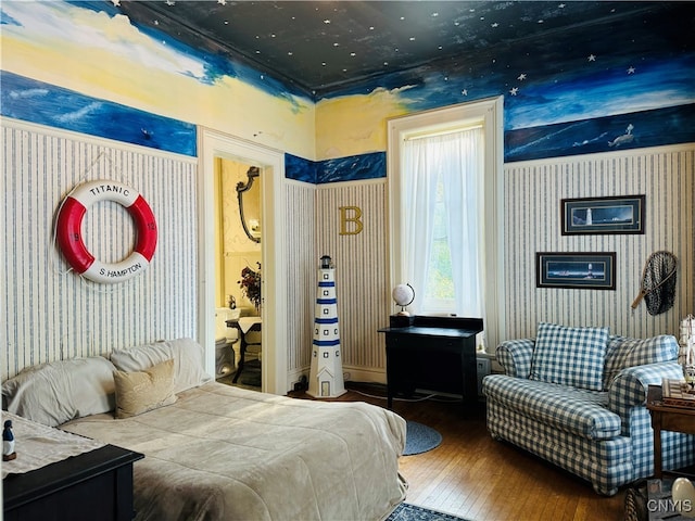
[[[112,139],[147,139],[154,148],[177,139],[175,125],[134,120],[138,110],[314,158],[311,100],[249,67],[144,31],[113,3],[2,2],[2,71],[39,81],[15,86],[14,76],[3,76],[3,115],[86,134],[103,135],[109,126]],[[125,107],[128,117],[119,117]]]

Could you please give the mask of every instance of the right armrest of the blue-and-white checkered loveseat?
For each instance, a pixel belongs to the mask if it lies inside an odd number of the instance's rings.
[[[608,408],[621,418],[629,418],[632,407],[646,404],[647,387],[661,385],[665,378],[683,378],[683,368],[677,361],[660,361],[622,369],[608,386]]]

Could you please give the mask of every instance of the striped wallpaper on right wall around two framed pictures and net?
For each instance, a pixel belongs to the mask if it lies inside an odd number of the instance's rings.
[[[694,166],[693,144],[507,164],[507,338],[534,335],[539,321],[608,326],[637,338],[678,334],[679,321],[695,313]],[[646,195],[644,234],[561,234],[561,199],[633,194]],[[644,302],[632,312],[645,262],[659,250],[679,258],[675,304],[657,316]],[[538,289],[536,252],[616,252],[617,289]]]

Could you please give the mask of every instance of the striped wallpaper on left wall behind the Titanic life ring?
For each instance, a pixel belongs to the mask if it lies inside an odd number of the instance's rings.
[[[1,131],[2,379],[43,361],[195,336],[197,160],[7,118]],[[62,200],[94,179],[132,187],[157,220],[151,266],[121,284],[97,284],[68,271],[54,244]],[[130,253],[132,221],[119,204],[98,203],[83,227],[98,259],[112,263]]]

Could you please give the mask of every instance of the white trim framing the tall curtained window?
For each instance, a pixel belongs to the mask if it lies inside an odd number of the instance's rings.
[[[387,186],[389,191],[389,264],[391,288],[403,280],[401,247],[401,143],[413,134],[446,131],[457,126],[482,124],[485,141],[483,237],[485,240],[486,350],[493,352],[506,330],[504,288],[504,98],[490,98],[445,109],[420,112],[388,120]],[[417,291],[417,289],[416,289]],[[392,307],[390,313],[396,309]]]

